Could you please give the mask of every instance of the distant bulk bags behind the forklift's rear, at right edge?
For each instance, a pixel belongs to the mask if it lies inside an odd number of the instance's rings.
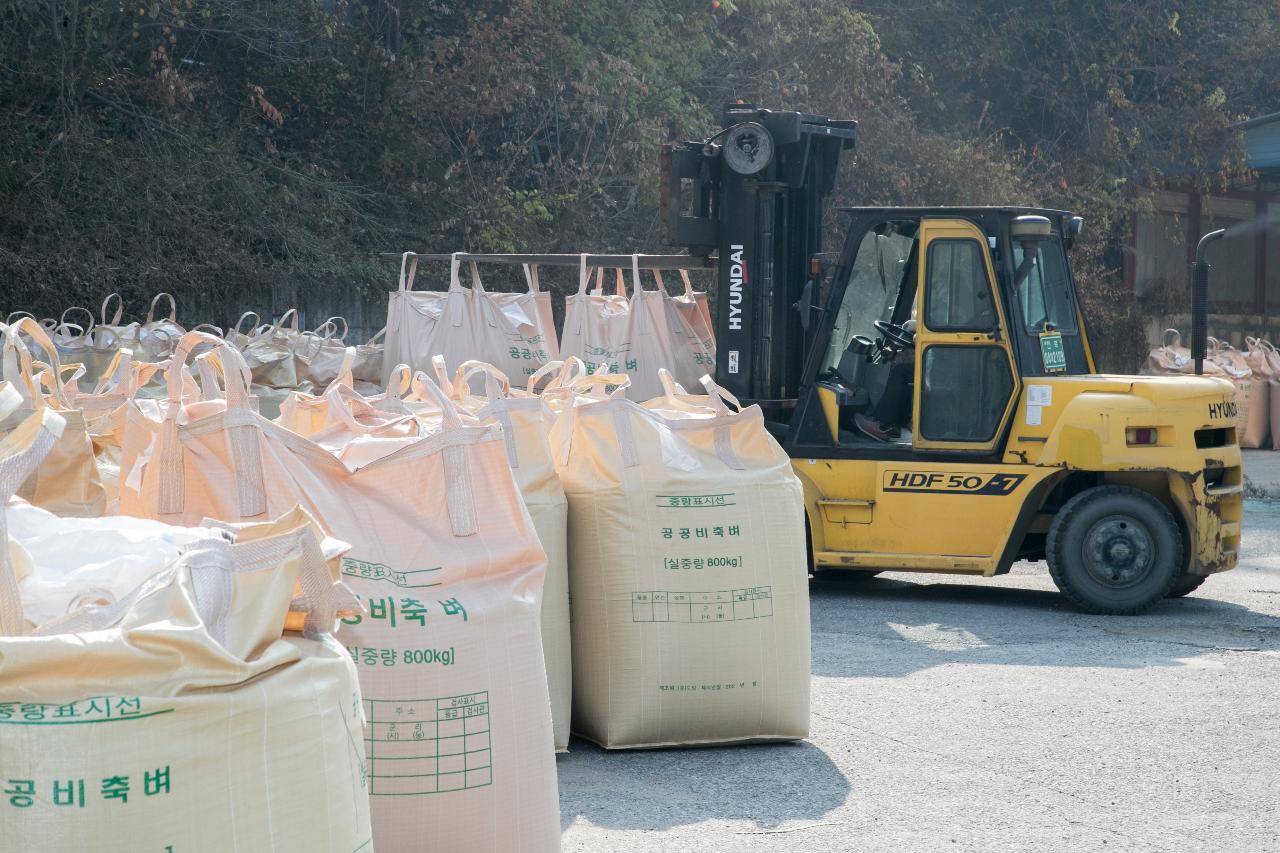
[[[1262,338],[1244,338],[1244,352],[1217,338],[1208,338],[1204,375],[1229,379],[1235,386],[1236,439],[1240,447],[1280,448],[1280,351]],[[1181,346],[1176,329],[1165,330],[1162,346],[1147,356],[1143,373],[1192,375],[1196,362]]]

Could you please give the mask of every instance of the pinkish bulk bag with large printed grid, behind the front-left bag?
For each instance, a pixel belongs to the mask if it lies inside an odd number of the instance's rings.
[[[184,339],[175,362],[202,338]],[[346,444],[329,434],[329,450],[253,412],[247,368],[230,347],[216,352],[225,400],[182,402],[170,373],[163,421],[131,406],[124,512],[193,524],[301,503],[352,544],[342,573],[367,610],[338,639],[369,717],[379,853],[558,850],[545,556],[502,432],[465,425],[436,389],[438,432]]]

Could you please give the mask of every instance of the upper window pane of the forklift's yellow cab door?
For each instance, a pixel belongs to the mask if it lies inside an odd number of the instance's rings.
[[[991,332],[996,309],[975,240],[934,240],[927,260],[924,321],[933,332]]]

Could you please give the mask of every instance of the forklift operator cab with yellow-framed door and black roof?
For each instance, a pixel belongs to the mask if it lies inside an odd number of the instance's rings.
[[[846,213],[845,250],[808,321],[812,375],[787,430],[792,456],[998,456],[1024,377],[1092,373],[1065,251],[1076,218]],[[856,415],[896,434],[872,438]]]

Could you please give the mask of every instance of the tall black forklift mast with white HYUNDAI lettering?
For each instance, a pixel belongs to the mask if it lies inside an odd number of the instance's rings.
[[[822,220],[858,123],[736,104],[723,129],[663,147],[668,245],[717,252],[716,382],[744,403],[795,405],[818,302]],[[805,288],[813,282],[812,289]]]

